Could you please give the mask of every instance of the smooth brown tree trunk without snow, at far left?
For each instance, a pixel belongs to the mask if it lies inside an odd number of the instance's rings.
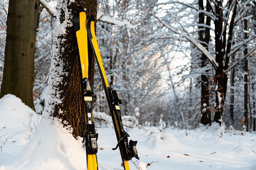
[[[7,17],[5,65],[0,97],[14,94],[34,108],[34,55],[38,0],[10,0]]]

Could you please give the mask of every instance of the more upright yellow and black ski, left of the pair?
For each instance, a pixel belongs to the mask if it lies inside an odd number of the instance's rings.
[[[86,30],[86,13],[80,6],[74,11],[73,26],[76,36],[76,48],[79,63],[80,82],[81,82],[81,96],[84,101],[85,115],[84,119],[84,131],[83,141],[85,141],[87,152],[87,169],[98,170],[98,162],[96,153],[98,151],[97,139],[98,133],[96,133],[95,125],[93,122],[93,90],[90,81],[88,80],[88,36]]]

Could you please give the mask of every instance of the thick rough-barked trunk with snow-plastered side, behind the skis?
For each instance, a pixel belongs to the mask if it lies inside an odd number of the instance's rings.
[[[74,136],[83,136],[84,108],[81,94],[80,74],[75,45],[75,33],[72,24],[72,14],[76,5],[86,8],[87,18],[97,16],[97,4],[88,1],[58,1],[56,16],[56,32],[53,42],[53,56],[50,68],[48,95],[45,111],[51,116],[61,119],[68,128],[72,127]],[[90,44],[90,43],[89,43]],[[91,45],[89,45],[91,47]],[[89,80],[94,84],[94,55],[89,53]]]

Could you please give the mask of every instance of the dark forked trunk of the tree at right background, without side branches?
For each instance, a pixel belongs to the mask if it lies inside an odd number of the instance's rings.
[[[229,53],[232,45],[232,37],[233,37],[233,29],[234,29],[234,20],[236,17],[236,8],[237,1],[232,7],[232,1],[228,2],[227,8],[231,10],[233,9],[233,14],[230,20],[229,29],[228,29],[228,40],[226,42],[226,31],[227,27],[223,27],[223,19],[227,19],[229,16],[223,16],[222,11],[222,1],[216,2],[215,6],[215,16],[217,19],[214,21],[215,26],[215,55],[216,62],[218,63],[218,68],[215,73],[215,82],[217,86],[216,91],[216,106],[215,106],[215,115],[214,121],[221,124],[221,116],[223,112],[224,102],[226,98],[227,92],[227,73],[224,70],[227,70],[229,67]]]

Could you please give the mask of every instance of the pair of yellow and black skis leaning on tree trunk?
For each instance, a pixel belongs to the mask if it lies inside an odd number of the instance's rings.
[[[89,60],[88,60],[88,47],[93,49],[94,55],[96,57],[96,61],[98,64],[98,68],[100,70],[101,79],[103,82],[104,90],[106,93],[106,97],[108,100],[108,105],[110,108],[111,117],[113,120],[113,124],[115,127],[116,137],[118,144],[114,149],[119,147],[121,158],[123,161],[123,166],[125,170],[129,170],[128,160],[132,157],[139,159],[138,152],[136,149],[137,141],[130,140],[128,142],[129,134],[124,130],[122,124],[122,117],[119,104],[122,104],[122,100],[116,90],[109,87],[106,74],[104,71],[99,46],[96,40],[95,35],[95,18],[91,16],[87,21],[86,13],[84,9],[80,6],[74,11],[73,15],[73,26],[76,35],[77,42],[77,53],[79,58],[79,68],[81,75],[81,88],[82,95],[85,106],[85,116],[86,120],[86,130],[83,136],[83,142],[85,141],[86,151],[87,151],[87,169],[98,169],[97,162],[97,151],[98,151],[98,133],[95,130],[95,124],[93,122],[93,90],[92,85],[89,78],[88,68],[89,68]],[[88,43],[90,42],[90,44]],[[89,46],[88,46],[89,45]],[[90,46],[91,45],[91,46]]]

